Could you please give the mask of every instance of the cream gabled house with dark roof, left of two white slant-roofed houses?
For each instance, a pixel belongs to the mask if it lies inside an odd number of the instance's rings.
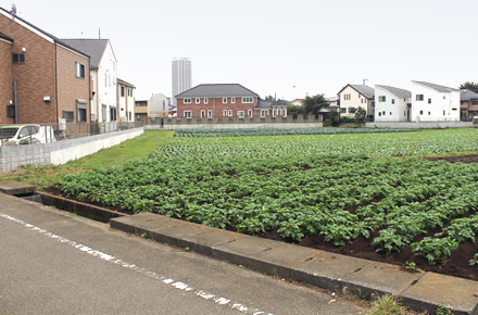
[[[340,102],[341,117],[355,117],[355,112],[358,108],[366,111],[366,119],[372,122],[374,119],[375,109],[375,90],[365,85],[347,85],[337,96]]]

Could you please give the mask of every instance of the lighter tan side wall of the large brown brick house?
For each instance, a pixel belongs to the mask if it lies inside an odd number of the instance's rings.
[[[85,78],[76,77],[75,62],[85,66]],[[89,59],[75,53],[62,46],[56,47],[58,64],[58,114],[62,118],[63,111],[74,113],[74,122],[78,121],[76,100],[87,101],[87,122],[90,121],[90,74]]]

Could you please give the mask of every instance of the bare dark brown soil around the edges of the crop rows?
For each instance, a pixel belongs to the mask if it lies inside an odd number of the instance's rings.
[[[451,163],[458,163],[458,162],[478,163],[478,154],[444,156],[444,158],[427,158],[427,160],[430,161],[445,160]],[[63,196],[61,191],[55,187],[50,187],[46,189],[46,191],[65,198],[65,196]],[[70,198],[70,199],[76,200],[75,198]],[[101,204],[88,200],[81,200],[80,202],[103,206]],[[122,211],[120,207],[108,207],[108,209]],[[130,212],[128,214],[130,214]],[[228,227],[227,229],[235,230],[231,227]],[[432,236],[435,232],[437,231],[429,231],[428,235]],[[443,261],[440,265],[430,266],[428,265],[428,262],[424,256],[415,256],[410,248],[403,248],[400,252],[395,252],[390,255],[385,255],[375,252],[375,248],[370,245],[370,241],[377,235],[378,232],[372,234],[368,239],[365,239],[363,237],[358,238],[354,241],[349,242],[347,245],[342,248],[337,248],[334,244],[326,242],[324,240],[324,236],[320,235],[306,237],[301,242],[297,242],[297,244],[302,247],[324,250],[328,252],[350,255],[354,257],[366,259],[366,260],[382,262],[392,265],[399,265],[402,266],[403,269],[410,270],[412,273],[414,272],[414,269],[410,267],[407,268],[408,263],[414,263],[417,269],[422,269],[425,272],[433,272],[438,274],[450,275],[450,276],[466,278],[470,280],[478,280],[478,266],[469,265],[469,260],[471,260],[474,255],[478,253],[478,242],[474,243],[471,241],[468,241],[462,243],[460,248],[455,252],[453,252],[450,259]],[[278,241],[285,241],[285,242],[292,242],[291,240],[282,239],[278,235],[277,229],[268,234],[261,235],[259,237],[272,239],[272,240],[278,240]],[[424,237],[425,236],[420,236],[419,238],[416,239],[416,241],[420,240]]]

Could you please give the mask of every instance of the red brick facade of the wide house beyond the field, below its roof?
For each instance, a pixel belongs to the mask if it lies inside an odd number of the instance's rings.
[[[199,104],[196,103],[196,98],[190,98],[191,103],[185,104],[185,99],[177,99],[177,116],[184,117],[185,111],[191,111],[192,117],[201,117],[201,111],[205,112],[207,117],[207,111],[213,112],[213,117],[223,117],[223,111],[232,111],[232,116],[238,115],[238,111],[243,111],[244,115],[248,115],[248,110],[254,110],[257,105],[257,97],[253,98],[252,103],[242,103],[242,98],[237,97],[236,102],[232,103],[231,98],[227,98],[227,102],[223,103],[223,98],[207,98],[207,104],[204,103],[204,98],[199,98]],[[254,112],[256,115],[257,112]]]

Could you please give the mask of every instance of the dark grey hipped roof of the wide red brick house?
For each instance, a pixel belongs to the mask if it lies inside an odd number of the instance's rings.
[[[238,84],[199,85],[176,96],[177,98],[259,97]]]

